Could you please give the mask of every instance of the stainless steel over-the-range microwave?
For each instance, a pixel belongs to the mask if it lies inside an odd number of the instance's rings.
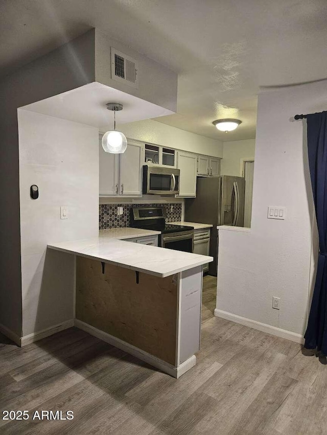
[[[179,169],[143,166],[144,195],[176,195],[179,193]]]

